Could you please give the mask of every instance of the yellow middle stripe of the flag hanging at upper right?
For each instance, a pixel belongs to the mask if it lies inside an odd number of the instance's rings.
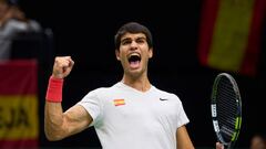
[[[244,58],[254,0],[221,0],[208,64],[238,72]]]

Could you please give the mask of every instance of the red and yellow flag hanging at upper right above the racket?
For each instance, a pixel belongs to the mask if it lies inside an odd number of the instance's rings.
[[[198,42],[201,64],[256,75],[265,10],[266,0],[204,0]]]

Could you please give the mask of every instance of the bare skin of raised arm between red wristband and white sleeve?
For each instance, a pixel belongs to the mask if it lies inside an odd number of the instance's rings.
[[[49,140],[60,140],[78,134],[92,123],[92,117],[80,105],[62,113],[60,103],[45,103],[44,131]]]

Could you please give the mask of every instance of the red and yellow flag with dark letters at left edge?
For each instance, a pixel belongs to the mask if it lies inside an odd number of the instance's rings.
[[[37,149],[37,62],[0,63],[0,149]]]

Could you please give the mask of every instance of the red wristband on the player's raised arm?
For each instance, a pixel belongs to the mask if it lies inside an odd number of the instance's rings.
[[[50,76],[48,89],[47,89],[47,102],[61,103],[63,91],[63,79],[53,78]]]

